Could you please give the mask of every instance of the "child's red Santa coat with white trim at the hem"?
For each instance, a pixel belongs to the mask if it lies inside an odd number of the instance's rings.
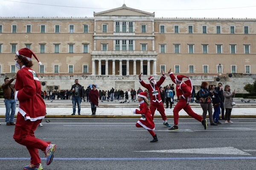
[[[144,100],[140,102],[140,110],[135,109],[133,111],[134,114],[143,114],[145,116],[145,120],[139,119],[137,123],[139,123],[142,127],[147,130],[154,130],[154,122],[152,120],[151,112],[148,106],[145,104]]]

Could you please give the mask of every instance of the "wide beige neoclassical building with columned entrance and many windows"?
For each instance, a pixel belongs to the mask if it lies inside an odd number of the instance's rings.
[[[125,5],[94,17],[0,17],[1,79],[17,72],[15,52],[24,47],[42,62],[34,59],[33,69],[43,89],[69,89],[76,78],[84,86],[137,89],[136,75],[172,68],[195,85],[240,78],[234,86],[242,92],[256,74],[256,19],[155,18]]]

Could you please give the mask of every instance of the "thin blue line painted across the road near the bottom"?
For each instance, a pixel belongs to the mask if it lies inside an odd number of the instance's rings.
[[[46,159],[46,158],[41,158],[41,159]],[[256,157],[54,158],[54,160],[196,160],[196,159],[256,159]],[[0,160],[30,160],[30,158],[0,158]]]

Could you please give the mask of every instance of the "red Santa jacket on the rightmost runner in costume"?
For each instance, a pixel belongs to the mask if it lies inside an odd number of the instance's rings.
[[[170,73],[169,75],[172,81],[176,84],[177,97],[182,96],[184,100],[189,102],[192,91],[192,82],[190,79],[186,80],[185,82],[182,81],[180,85],[177,85],[175,75],[173,73]]]

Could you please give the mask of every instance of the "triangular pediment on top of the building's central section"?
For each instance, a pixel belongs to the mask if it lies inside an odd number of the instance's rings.
[[[129,8],[125,4],[122,7],[110,9],[102,12],[93,12],[95,16],[153,16],[154,12],[140,11],[138,9]]]

